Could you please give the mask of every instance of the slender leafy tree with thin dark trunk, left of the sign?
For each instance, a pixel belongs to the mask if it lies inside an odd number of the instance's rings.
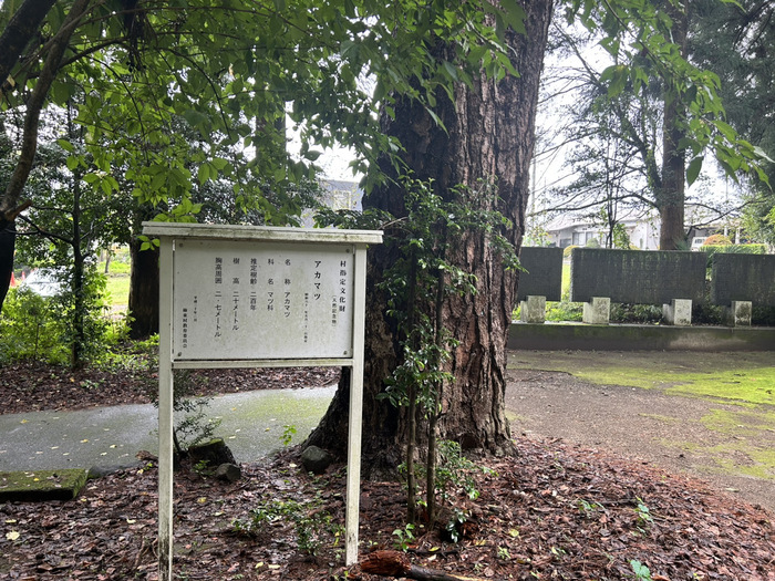
[[[22,216],[25,236],[20,237],[17,261],[43,267],[62,279],[66,290],[55,300],[68,328],[70,363],[79,367],[96,346],[93,339],[100,335],[106,314],[99,295],[104,283],[100,284],[96,273],[97,250],[125,237],[128,222],[122,211],[127,200],[111,196],[112,190],[83,195],[89,160],[73,111],[72,106],[51,110],[43,117],[42,133],[51,136],[52,126],[63,127],[68,139],[61,143],[68,149],[45,138],[39,147],[28,180],[31,206]]]

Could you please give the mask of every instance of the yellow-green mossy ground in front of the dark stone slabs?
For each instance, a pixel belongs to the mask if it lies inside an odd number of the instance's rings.
[[[775,479],[775,355],[772,352],[516,352],[510,367],[566,372],[598,385],[659,390],[710,402],[699,425],[707,442],[662,440],[700,453],[707,471]],[[683,417],[654,416],[664,424]]]

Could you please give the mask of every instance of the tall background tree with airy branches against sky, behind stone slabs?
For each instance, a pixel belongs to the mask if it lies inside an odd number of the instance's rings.
[[[633,32],[613,39],[610,32],[621,27],[622,14],[630,8],[624,2],[612,13],[595,17],[590,12],[583,30],[576,22],[556,23],[555,46],[565,62],[574,64],[561,66],[551,84],[572,113],[562,137],[578,144],[569,158],[578,178],[554,190],[552,209],[610,205],[616,188],[616,201],[624,208],[657,210],[660,248],[683,248],[685,186],[700,176],[706,149],[731,176],[754,169],[751,162],[758,154],[730,131],[723,111],[716,110],[720,82],[707,72],[713,63],[699,62],[701,69],[695,69],[671,62],[672,56],[681,56],[684,63],[690,58],[686,39],[690,22],[700,18],[698,3],[655,2],[651,15],[643,14],[644,20],[634,23]],[[659,39],[665,44],[654,42]],[[627,48],[622,40],[628,41]],[[699,102],[696,92],[703,84],[711,93]],[[726,155],[735,147],[744,156],[730,163]],[[612,164],[610,152],[618,156]],[[618,177],[612,180],[613,176]],[[728,212],[717,200],[703,199],[707,190],[696,191],[695,204],[704,204],[717,216]]]

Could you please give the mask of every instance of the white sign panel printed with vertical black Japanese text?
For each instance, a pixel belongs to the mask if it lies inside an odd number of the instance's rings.
[[[351,357],[352,245],[176,240],[175,361]]]

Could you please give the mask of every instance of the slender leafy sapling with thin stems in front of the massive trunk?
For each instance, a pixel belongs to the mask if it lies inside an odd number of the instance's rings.
[[[435,513],[436,421],[442,412],[442,391],[452,380],[445,371],[448,351],[457,343],[444,328],[443,305],[447,297],[476,292],[473,274],[447,259],[448,249],[471,234],[485,237],[500,253],[505,268],[518,268],[514,248],[500,234],[509,225],[497,211],[482,210],[492,198],[494,188],[480,184],[478,191],[456,188],[448,193],[451,200],[434,194],[432,183],[403,178],[406,217],[391,224],[388,243],[399,255],[384,273],[380,289],[388,297],[388,315],[395,322],[401,344],[402,361],[385,381],[385,391],[379,395],[395,406],[406,406],[409,418],[406,446],[409,521],[415,516],[416,470],[415,445],[417,417],[427,422],[428,452],[426,454],[426,505],[433,523]]]

